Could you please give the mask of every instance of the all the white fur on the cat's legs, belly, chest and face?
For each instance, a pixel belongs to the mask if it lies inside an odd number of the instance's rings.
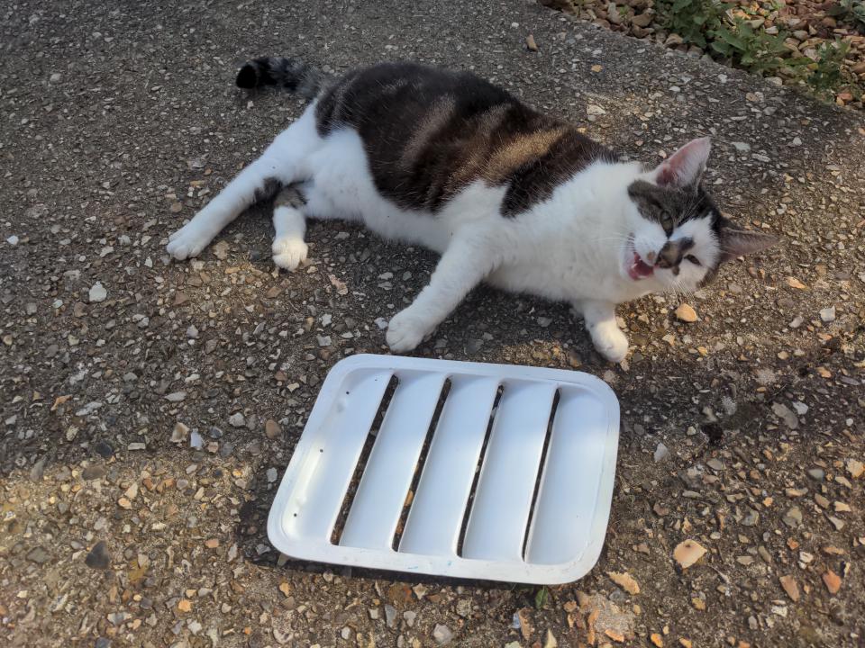
[[[514,218],[499,213],[505,187],[476,182],[436,214],[397,207],[379,195],[360,137],[339,130],[321,138],[314,104],[283,131],[196,217],[171,235],[168,253],[195,257],[254,200],[265,178],[302,182],[301,210],[274,210],[274,262],[293,270],[306,257],[304,217],[360,220],[380,236],[419,244],[442,254],[430,283],[397,313],[387,329],[395,352],[421,343],[482,281],[509,291],[566,301],[583,315],[597,350],[624,359],[628,341],[615,323],[615,305],[658,291],[692,291],[706,268],[681,264],[678,276],[657,270],[634,281],[627,274],[633,249],[650,258],[667,241],[657,223],[645,220],[627,195],[636,179],[651,181],[636,163],[597,162],[561,184],[551,197]],[[719,255],[708,224],[687,221],[672,239],[693,238],[703,266]],[[633,243],[632,243],[633,241]],[[633,248],[629,247],[633,245]]]

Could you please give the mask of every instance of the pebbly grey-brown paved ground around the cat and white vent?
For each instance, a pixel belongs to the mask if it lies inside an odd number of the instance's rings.
[[[2,11],[0,643],[862,644],[860,113],[520,2]],[[785,239],[694,295],[696,321],[673,298],[622,308],[621,366],[564,305],[487,289],[419,349],[612,384],[612,518],[582,581],[442,581],[269,546],[318,384],[343,356],[386,352],[375,320],[434,262],[329,222],[309,230],[311,265],[279,274],[263,207],[200,259],[168,260],[168,232],[300,110],[232,88],[270,53],[470,67],[647,161],[712,134],[719,202]],[[706,554],[683,569],[686,540]]]

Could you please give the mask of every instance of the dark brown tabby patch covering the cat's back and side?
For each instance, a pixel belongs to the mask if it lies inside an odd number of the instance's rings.
[[[378,192],[405,209],[439,211],[482,180],[507,185],[501,209],[514,215],[594,159],[614,158],[478,76],[414,63],[343,76],[319,98],[315,117],[323,137],[357,131]]]

